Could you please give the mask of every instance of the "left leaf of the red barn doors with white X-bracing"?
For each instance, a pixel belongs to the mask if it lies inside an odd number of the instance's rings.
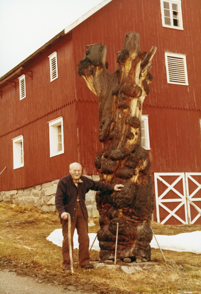
[[[185,174],[154,173],[154,181],[157,222],[164,224],[173,217],[188,224]]]

